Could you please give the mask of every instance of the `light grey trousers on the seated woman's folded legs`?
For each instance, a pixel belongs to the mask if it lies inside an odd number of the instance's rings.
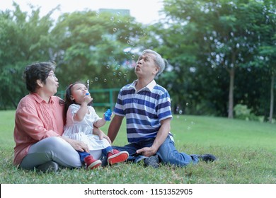
[[[78,152],[64,139],[52,136],[30,146],[27,156],[21,162],[21,168],[31,170],[50,161],[68,168],[81,167]]]

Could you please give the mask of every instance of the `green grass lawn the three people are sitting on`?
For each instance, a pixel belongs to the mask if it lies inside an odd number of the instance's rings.
[[[101,115],[101,113],[99,113]],[[12,165],[14,111],[0,111],[0,182],[13,183],[192,183],[192,184],[275,184],[276,124],[229,120],[219,117],[179,115],[171,122],[176,148],[185,153],[213,153],[219,160],[178,168],[159,169],[142,164],[122,163],[97,170],[68,170],[37,173]],[[108,124],[103,128],[107,132]],[[115,145],[127,143],[125,124]]]

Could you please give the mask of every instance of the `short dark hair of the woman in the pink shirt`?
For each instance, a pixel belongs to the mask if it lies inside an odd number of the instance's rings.
[[[38,88],[37,80],[46,83],[46,78],[50,71],[54,71],[56,64],[54,62],[37,62],[25,67],[23,78],[26,83],[26,88],[30,93],[35,93]]]

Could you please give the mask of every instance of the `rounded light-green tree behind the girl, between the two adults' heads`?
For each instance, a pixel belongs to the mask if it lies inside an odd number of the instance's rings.
[[[142,25],[131,16],[80,11],[59,17],[52,30],[57,40],[52,57],[59,65],[59,81],[91,81],[91,88],[118,88],[128,80],[134,59],[131,49],[142,37]]]

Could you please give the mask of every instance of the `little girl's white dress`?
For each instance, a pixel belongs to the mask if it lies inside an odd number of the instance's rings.
[[[62,136],[83,141],[89,146],[90,151],[101,150],[110,146],[107,139],[100,140],[97,135],[93,134],[93,123],[100,120],[93,107],[88,106],[89,114],[86,114],[80,122],[73,120],[74,114],[80,107],[80,105],[76,104],[69,106],[67,110],[67,122]]]

